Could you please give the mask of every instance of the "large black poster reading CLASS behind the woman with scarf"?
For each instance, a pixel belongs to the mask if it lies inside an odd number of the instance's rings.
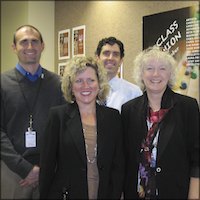
[[[199,8],[186,7],[143,17],[143,49],[162,47],[177,61],[174,90],[199,102]]]

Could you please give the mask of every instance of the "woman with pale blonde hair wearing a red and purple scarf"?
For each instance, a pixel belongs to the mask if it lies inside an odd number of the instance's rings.
[[[158,47],[134,61],[144,91],[122,106],[125,199],[199,198],[199,106],[175,93],[176,62]]]

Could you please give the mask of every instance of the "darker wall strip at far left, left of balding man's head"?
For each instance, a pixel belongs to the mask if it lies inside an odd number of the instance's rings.
[[[19,14],[20,13],[20,14]],[[18,26],[28,23],[28,3],[1,1],[1,71],[13,68],[17,57],[12,51],[13,33]]]

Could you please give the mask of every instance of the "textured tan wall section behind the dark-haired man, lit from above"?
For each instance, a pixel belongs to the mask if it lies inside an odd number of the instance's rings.
[[[93,56],[101,38],[115,36],[125,45],[124,78],[132,80],[132,62],[142,50],[142,17],[192,6],[198,1],[57,1],[55,41],[58,31],[86,25],[86,55]],[[58,62],[57,43],[55,61]]]

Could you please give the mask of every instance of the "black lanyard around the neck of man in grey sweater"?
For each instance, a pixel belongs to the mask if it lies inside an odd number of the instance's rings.
[[[41,88],[41,85],[42,85],[42,79],[40,79],[39,85],[38,85],[38,87],[37,87],[36,95],[35,95],[33,104],[30,105],[30,104],[28,103],[28,102],[29,102],[28,99],[27,99],[26,96],[25,96],[25,92],[24,92],[24,90],[23,90],[23,87],[22,87],[22,85],[21,85],[21,83],[20,83],[20,78],[19,78],[19,75],[17,74],[17,71],[15,71],[15,73],[16,73],[17,82],[18,82],[18,84],[19,84],[19,87],[20,87],[22,96],[23,96],[24,101],[25,101],[25,103],[26,103],[26,108],[27,108],[27,110],[28,110],[28,112],[29,112],[29,128],[30,128],[30,130],[32,130],[32,129],[33,129],[33,110],[34,110],[35,105],[36,105],[37,100],[38,100],[38,96],[39,96],[39,93],[40,93],[40,88]]]

